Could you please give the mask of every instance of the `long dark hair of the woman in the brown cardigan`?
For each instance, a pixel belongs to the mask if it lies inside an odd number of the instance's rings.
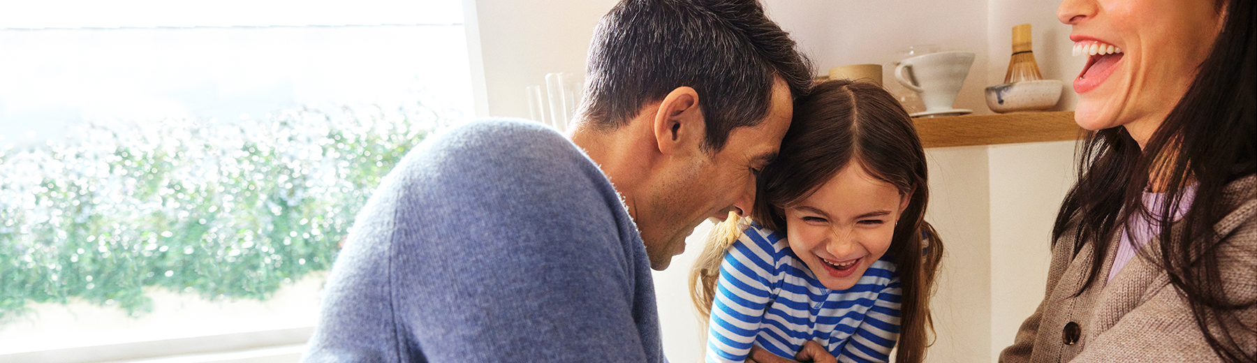
[[[1091,133],[1079,153],[1079,182],[1066,196],[1052,231],[1053,245],[1073,234],[1077,256],[1095,244],[1087,281],[1099,279],[1109,244],[1140,214],[1154,226],[1172,226],[1188,186],[1195,183],[1190,210],[1173,227],[1161,229],[1158,249],[1139,256],[1165,270],[1170,284],[1188,301],[1192,315],[1213,352],[1226,362],[1253,362],[1252,347],[1239,347],[1237,334],[1253,334],[1252,322],[1236,312],[1253,300],[1228,295],[1219,271],[1218,246],[1229,235],[1217,225],[1237,207],[1228,198],[1252,198],[1253,191],[1226,195],[1228,183],[1257,172],[1257,82],[1254,82],[1254,1],[1222,0],[1223,29],[1195,80],[1140,151],[1124,127]],[[1224,10],[1223,10],[1224,8]],[[1164,188],[1164,202],[1150,212],[1141,195],[1150,183]],[[1151,255],[1154,251],[1158,255]],[[1243,273],[1241,273],[1243,274]],[[1229,276],[1246,279],[1253,275]],[[1234,283],[1234,281],[1232,281]]]

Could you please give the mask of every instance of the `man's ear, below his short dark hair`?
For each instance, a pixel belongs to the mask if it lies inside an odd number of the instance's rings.
[[[678,87],[669,92],[655,113],[655,142],[664,154],[696,149],[706,136],[706,122],[694,88]]]

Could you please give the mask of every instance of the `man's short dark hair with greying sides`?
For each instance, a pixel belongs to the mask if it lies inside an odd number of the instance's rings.
[[[678,87],[699,93],[706,151],[768,114],[773,77],[802,97],[812,65],[754,0],[623,0],[590,45],[581,116],[608,131]]]

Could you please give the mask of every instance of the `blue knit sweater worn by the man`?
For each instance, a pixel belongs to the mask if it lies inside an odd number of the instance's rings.
[[[664,362],[646,250],[572,142],[473,122],[358,214],[303,362]]]

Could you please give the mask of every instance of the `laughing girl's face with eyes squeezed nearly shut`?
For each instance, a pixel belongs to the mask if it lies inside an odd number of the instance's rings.
[[[812,196],[784,209],[789,246],[825,288],[850,289],[890,249],[909,200],[851,162]]]

